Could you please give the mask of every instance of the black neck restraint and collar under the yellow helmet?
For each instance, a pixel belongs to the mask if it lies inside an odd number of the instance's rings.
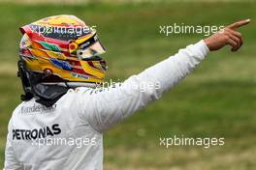
[[[20,77],[24,90],[21,100],[35,98],[37,102],[48,107],[65,95],[70,88],[100,86],[89,82],[41,82],[48,74],[27,70],[22,59],[17,62],[17,66],[17,76]]]

